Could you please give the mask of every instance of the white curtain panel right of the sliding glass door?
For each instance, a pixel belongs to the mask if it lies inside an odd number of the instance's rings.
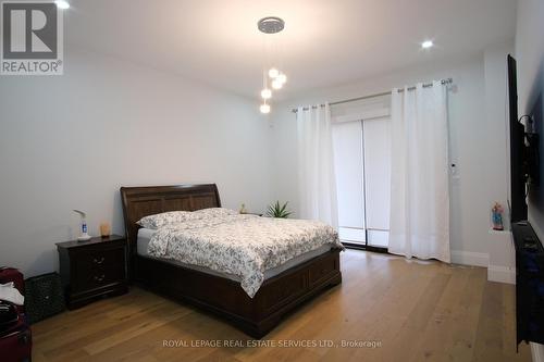
[[[392,92],[388,251],[449,262],[446,87]]]

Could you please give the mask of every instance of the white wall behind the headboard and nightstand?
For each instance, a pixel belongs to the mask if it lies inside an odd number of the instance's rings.
[[[0,265],[58,267],[72,209],[123,233],[119,188],[217,183],[223,204],[270,202],[269,123],[258,103],[79,51],[65,74],[0,79]]]

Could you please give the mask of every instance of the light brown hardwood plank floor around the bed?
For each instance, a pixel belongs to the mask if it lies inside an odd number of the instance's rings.
[[[531,361],[528,346],[516,353],[515,288],[487,282],[485,269],[355,250],[342,253],[342,285],[261,340],[276,347],[256,346],[221,320],[132,288],[34,325],[33,359]]]

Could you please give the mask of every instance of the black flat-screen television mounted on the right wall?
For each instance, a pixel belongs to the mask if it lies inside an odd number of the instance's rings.
[[[516,60],[508,55],[508,105],[510,110],[510,222],[527,220],[526,127],[518,117]]]

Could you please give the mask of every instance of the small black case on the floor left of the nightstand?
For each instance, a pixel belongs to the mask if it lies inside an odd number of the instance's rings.
[[[25,309],[30,324],[66,309],[58,273],[38,275],[25,280]]]

